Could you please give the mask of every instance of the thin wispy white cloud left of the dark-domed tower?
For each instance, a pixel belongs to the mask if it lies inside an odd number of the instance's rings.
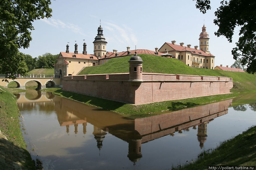
[[[65,22],[62,22],[61,20],[56,20],[52,18],[49,18],[49,19],[44,18],[42,19],[42,21],[58,29],[67,29],[67,30],[70,30],[71,32],[85,36],[85,33],[83,33],[83,29],[76,24],[72,24],[69,22],[65,23]]]

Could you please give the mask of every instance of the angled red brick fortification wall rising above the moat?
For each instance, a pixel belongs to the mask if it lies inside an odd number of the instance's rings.
[[[143,73],[140,85],[129,81],[129,73],[65,76],[63,90],[144,104],[199,96],[230,93],[232,78]]]

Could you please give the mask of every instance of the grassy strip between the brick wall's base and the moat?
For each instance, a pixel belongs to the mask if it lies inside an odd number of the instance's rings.
[[[92,106],[97,106],[106,110],[127,114],[128,117],[131,117],[131,118],[152,116],[156,114],[161,114],[161,111],[164,111],[164,110],[176,110],[180,108],[192,107],[199,104],[206,104],[209,102],[214,102],[214,101],[238,96],[237,94],[231,93],[231,94],[225,94],[225,95],[203,96],[203,97],[196,97],[196,98],[187,98],[182,100],[170,100],[170,101],[155,102],[155,103],[142,104],[142,105],[132,105],[132,104],[125,104],[122,102],[107,100],[103,98],[92,97],[92,96],[72,93],[68,91],[62,91],[60,89],[53,90],[53,91],[54,91],[53,94],[55,95],[70,98],[72,100],[77,100],[79,102],[83,102],[85,104],[89,104]]]

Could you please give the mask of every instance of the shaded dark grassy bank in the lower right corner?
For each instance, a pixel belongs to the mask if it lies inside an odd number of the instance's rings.
[[[256,164],[256,126],[242,134],[222,142],[214,150],[198,155],[193,163],[173,169],[207,169],[209,165],[255,165]]]

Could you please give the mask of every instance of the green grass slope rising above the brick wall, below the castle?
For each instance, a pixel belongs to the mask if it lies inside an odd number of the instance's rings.
[[[192,68],[183,62],[161,56],[154,56],[150,54],[139,55],[143,62],[144,73],[165,73],[165,74],[189,74],[189,75],[209,75],[209,76],[223,76],[232,77],[234,87],[231,92],[248,92],[256,91],[256,75],[230,72],[222,70],[212,70],[204,68]],[[112,58],[103,65],[86,67],[79,75],[84,74],[109,74],[109,73],[128,73],[131,56]]]

